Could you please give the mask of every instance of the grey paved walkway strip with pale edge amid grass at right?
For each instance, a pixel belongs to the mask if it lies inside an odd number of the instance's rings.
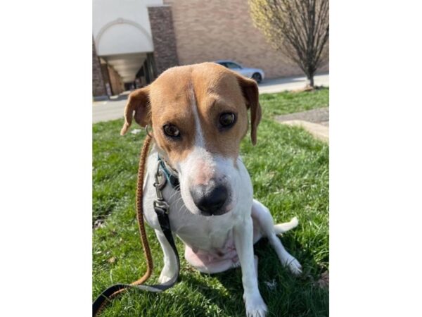
[[[329,141],[329,111],[328,107],[312,109],[298,113],[289,113],[284,116],[276,116],[279,123],[299,126],[307,130],[311,135],[322,141]]]

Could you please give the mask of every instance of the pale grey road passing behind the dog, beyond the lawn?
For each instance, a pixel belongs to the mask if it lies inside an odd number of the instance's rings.
[[[316,86],[328,87],[329,75],[315,75],[314,82]],[[305,87],[305,85],[306,77],[298,76],[264,80],[258,86],[260,94],[271,94],[274,92],[283,92],[285,90],[300,89]],[[92,123],[123,118],[125,104],[126,99],[94,101],[92,103]]]

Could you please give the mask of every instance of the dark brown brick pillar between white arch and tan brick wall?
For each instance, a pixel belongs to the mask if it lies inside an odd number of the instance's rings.
[[[176,38],[174,37],[172,8],[153,6],[148,8],[154,44],[154,60],[157,74],[177,66]]]

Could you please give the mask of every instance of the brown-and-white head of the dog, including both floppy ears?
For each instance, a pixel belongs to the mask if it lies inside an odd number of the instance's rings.
[[[255,81],[215,63],[179,66],[129,94],[121,134],[132,118],[150,125],[160,155],[179,175],[187,209],[221,215],[243,194],[238,154],[248,109],[255,145],[261,119]]]

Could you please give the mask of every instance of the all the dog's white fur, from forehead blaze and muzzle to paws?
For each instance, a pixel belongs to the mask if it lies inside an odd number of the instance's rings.
[[[298,219],[293,218],[289,223],[274,225],[269,210],[259,201],[252,199],[252,183],[241,159],[237,159],[235,166],[232,159],[225,159],[207,151],[194,98],[192,107],[196,120],[195,145],[188,158],[174,166],[179,173],[180,191],[175,191],[168,185],[163,189],[165,200],[170,204],[172,232],[194,252],[196,250],[212,252],[223,248],[228,239],[233,239],[238,262],[242,268],[246,315],[265,316],[267,306],[258,290],[257,258],[254,258],[253,243],[260,237],[267,237],[283,266],[288,266],[295,274],[301,273],[300,263],[288,254],[276,236],[298,225]],[[160,282],[166,282],[174,275],[176,259],[170,244],[162,234],[152,208],[153,200],[156,198],[153,182],[158,164],[157,155],[158,149],[154,148],[148,156],[143,209],[146,222],[155,229],[164,252],[164,267],[160,274]],[[161,151],[160,155],[165,156]],[[230,211],[220,216],[201,216],[199,209],[193,203],[189,188],[192,184],[206,183],[211,177],[223,180],[229,187]],[[217,273],[237,265],[238,263],[228,260],[219,267],[208,267],[204,271]]]

